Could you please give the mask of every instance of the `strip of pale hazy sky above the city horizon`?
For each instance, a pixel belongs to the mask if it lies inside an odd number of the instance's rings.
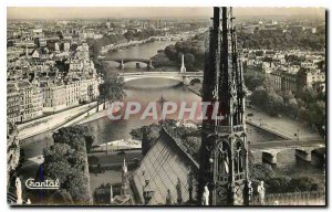
[[[247,15],[312,15],[324,17],[323,8],[234,8],[236,17]],[[89,19],[89,18],[209,18],[212,8],[124,8],[124,7],[83,7],[83,8],[43,8],[8,7],[8,19]]]

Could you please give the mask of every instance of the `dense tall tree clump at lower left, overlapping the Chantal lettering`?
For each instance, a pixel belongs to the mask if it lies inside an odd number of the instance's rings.
[[[54,145],[43,150],[41,165],[44,179],[59,180],[60,189],[50,200],[60,204],[89,204],[91,201],[87,155],[94,141],[86,126],[59,129]],[[39,176],[39,174],[38,174]]]

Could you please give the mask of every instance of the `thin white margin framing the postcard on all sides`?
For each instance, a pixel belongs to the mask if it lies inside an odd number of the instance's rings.
[[[90,1],[70,1],[70,0],[65,0],[65,1],[61,1],[61,0],[44,0],[44,1],[40,1],[40,0],[2,0],[0,1],[1,8],[0,8],[0,15],[1,15],[1,23],[0,23],[0,33],[1,33],[1,39],[0,39],[0,63],[1,63],[1,71],[0,71],[0,78],[1,78],[1,84],[0,84],[0,96],[3,96],[3,100],[0,100],[0,108],[1,108],[1,121],[0,121],[0,129],[2,131],[1,134],[1,142],[0,142],[0,149],[2,151],[1,153],[1,169],[0,169],[0,173],[1,173],[1,180],[0,180],[0,184],[2,188],[1,189],[1,199],[0,199],[0,204],[1,208],[6,211],[9,210],[13,210],[11,208],[9,208],[7,205],[7,191],[6,191],[6,167],[7,167],[7,139],[6,139],[6,120],[7,120],[7,113],[6,113],[6,96],[7,96],[7,82],[6,82],[6,38],[7,38],[7,7],[212,7],[212,6],[232,6],[232,7],[323,7],[326,9],[331,9],[331,0],[274,0],[274,1],[268,1],[268,0],[255,0],[255,1],[240,1],[240,0],[167,0],[167,1],[162,1],[162,0],[118,0],[118,1],[107,1],[107,0],[90,0]],[[331,20],[329,21],[329,29],[331,29]],[[328,39],[328,38],[326,38]],[[329,45],[331,46],[330,43],[330,34],[329,34]],[[330,51],[329,51],[329,62],[330,62]],[[329,63],[329,66],[331,67],[331,63]],[[330,70],[329,70],[330,71]],[[329,82],[331,84],[332,81],[332,73],[329,74]],[[328,85],[329,91],[330,91],[330,84]],[[331,92],[329,92],[329,99],[331,99],[332,95]],[[330,116],[331,117],[331,105],[329,104],[329,112],[330,112]],[[329,131],[330,131],[330,125],[329,125]],[[329,153],[331,152],[331,144],[329,145]],[[329,157],[331,158],[331,156]],[[329,171],[331,171],[331,160],[329,160]],[[331,172],[330,174],[331,176]],[[331,177],[330,177],[331,179]],[[331,181],[329,181],[329,186],[331,184]],[[329,188],[330,191],[330,188]],[[328,191],[328,192],[329,192]],[[329,197],[331,199],[331,193],[329,192]],[[329,199],[329,203],[331,203]],[[55,211],[56,208],[50,208],[50,211]],[[68,210],[69,208],[62,208],[61,210]],[[143,208],[133,208],[133,209],[112,209],[112,208],[103,208],[103,210],[122,210],[122,211],[128,211],[128,210],[139,210],[143,211],[145,209]],[[270,210],[276,210],[276,208]],[[294,211],[302,211],[303,208],[300,209],[287,209],[287,210],[294,210]],[[44,208],[42,209],[38,209],[38,208],[33,208],[33,209],[25,209],[24,211],[34,211],[34,210],[44,210]],[[59,208],[56,209],[59,210]],[[97,208],[79,208],[79,209],[74,209],[74,210],[101,210]],[[157,210],[156,208],[149,209],[149,210]],[[168,208],[165,209],[163,208],[163,210],[178,210],[174,209],[174,208]],[[197,208],[187,208],[184,209],[187,211],[198,211],[199,209]],[[210,209],[210,210],[218,210],[218,209]],[[231,208],[220,208],[221,210],[231,210]],[[246,209],[237,209],[240,211],[253,211],[253,210],[258,210],[257,208],[246,208]],[[263,209],[260,208],[259,210],[268,210],[268,209]],[[280,209],[279,209],[280,210]],[[317,211],[318,209],[310,209],[309,211]]]

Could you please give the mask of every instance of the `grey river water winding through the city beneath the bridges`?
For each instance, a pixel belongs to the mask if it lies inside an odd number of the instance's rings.
[[[172,41],[156,41],[153,43],[146,43],[137,46],[132,46],[118,52],[108,53],[108,56],[114,59],[125,59],[125,57],[141,57],[149,59],[154,56],[158,50],[164,50],[167,45],[174,44]],[[142,72],[146,70],[146,64],[141,64],[139,70],[136,68],[136,63],[131,62],[125,64],[125,68],[121,71],[118,68],[118,63],[116,62],[105,62],[110,73],[112,72]],[[168,67],[169,71],[176,71],[175,67]],[[107,74],[106,74],[107,77]],[[163,78],[146,78],[136,80],[128,82],[131,88],[126,89],[126,97],[124,102],[135,100],[143,105],[149,102],[157,102],[162,96],[172,102],[199,102],[200,97],[188,91],[186,87],[181,86],[179,82],[173,80]],[[160,110],[160,106],[157,108]],[[138,128],[144,125],[149,125],[158,120],[154,119],[139,119],[138,116],[131,117],[127,120],[112,121],[108,117],[100,118],[90,123],[84,124],[90,128],[95,137],[95,144],[104,144],[113,140],[118,140],[123,138],[131,138],[131,130],[133,128]],[[255,131],[255,129],[250,129]],[[35,157],[42,153],[42,149],[48,145],[52,145],[52,131],[46,131],[30,138],[27,138],[27,145],[23,145],[25,157]],[[253,132],[249,135],[248,140],[255,140],[259,138],[259,134]],[[269,137],[263,137],[264,141],[269,141]],[[261,153],[256,152],[255,158],[257,161],[261,161]],[[323,182],[323,170],[318,169],[311,165],[299,166],[297,165],[294,150],[286,150],[278,156],[278,167],[276,168],[277,173],[287,174],[290,177],[312,177],[315,178],[318,182]]]

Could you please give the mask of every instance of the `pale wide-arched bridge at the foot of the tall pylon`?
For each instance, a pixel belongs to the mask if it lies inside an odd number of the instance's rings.
[[[190,83],[203,83],[203,72],[134,72],[122,73],[124,82],[129,82],[139,78],[169,78],[189,85]]]

